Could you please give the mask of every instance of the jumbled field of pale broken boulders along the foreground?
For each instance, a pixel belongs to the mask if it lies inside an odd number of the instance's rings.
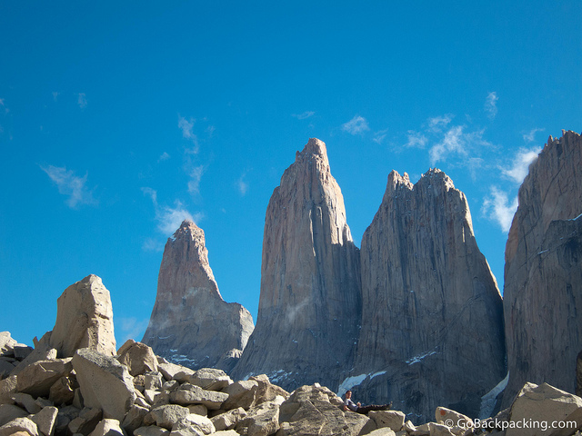
[[[95,348],[3,375],[0,436],[517,436],[531,434],[519,427],[527,420],[562,423],[567,431],[536,434],[566,436],[582,426],[582,399],[547,384],[527,383],[510,408],[487,421],[437,407],[435,421],[416,426],[401,411],[344,411],[318,383],[289,393],[266,375],[232,381],[221,370],[193,371],[140,342],[126,342],[115,357]],[[0,359],[24,362],[15,350],[10,334],[0,332]]]

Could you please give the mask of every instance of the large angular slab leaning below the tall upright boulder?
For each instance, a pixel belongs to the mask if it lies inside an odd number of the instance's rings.
[[[135,401],[134,382],[115,358],[84,348],[73,356],[76,380],[85,406],[103,410],[105,418],[123,421]]]

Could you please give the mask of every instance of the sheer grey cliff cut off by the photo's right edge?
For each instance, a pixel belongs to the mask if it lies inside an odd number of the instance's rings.
[[[509,403],[526,381],[575,391],[582,350],[582,139],[550,138],[519,188],[506,246]]]

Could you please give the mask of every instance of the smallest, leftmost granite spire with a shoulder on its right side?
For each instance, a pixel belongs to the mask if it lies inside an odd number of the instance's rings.
[[[251,314],[218,292],[204,232],[185,221],[166,243],[143,342],[172,362],[229,371],[252,331]]]

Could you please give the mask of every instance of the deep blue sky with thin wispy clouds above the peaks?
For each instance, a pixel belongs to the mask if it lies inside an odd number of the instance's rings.
[[[577,0],[0,3],[0,331],[31,344],[95,273],[141,339],[185,217],[256,318],[266,205],[310,137],[356,245],[392,169],[437,166],[502,285],[527,163],[582,129],[580,23]]]

